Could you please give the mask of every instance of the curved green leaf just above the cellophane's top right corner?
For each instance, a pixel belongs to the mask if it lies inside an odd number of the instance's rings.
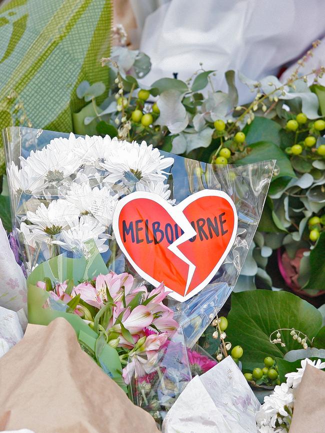
[[[286,154],[276,144],[269,141],[258,141],[250,144],[249,147],[251,149],[250,153],[237,160],[236,164],[249,164],[267,159],[276,159],[275,167],[279,169],[276,178],[280,176],[296,177]]]

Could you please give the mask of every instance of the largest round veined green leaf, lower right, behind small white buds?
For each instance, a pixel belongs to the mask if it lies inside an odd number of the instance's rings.
[[[310,339],[321,327],[321,314],[309,302],[286,291],[252,290],[233,293],[228,314],[227,338],[241,345],[240,358],[245,369],[263,366],[265,356],[283,357],[300,348],[290,331],[280,331],[285,347],[272,344],[270,334],[279,328],[297,329]],[[275,334],[273,334],[275,338]]]

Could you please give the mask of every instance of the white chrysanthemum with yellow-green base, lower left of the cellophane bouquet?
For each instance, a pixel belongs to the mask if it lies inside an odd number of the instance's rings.
[[[75,226],[79,214],[76,206],[64,199],[59,199],[51,201],[48,207],[41,203],[35,212],[28,210],[26,217],[33,224],[33,229],[40,229],[49,235],[54,235],[62,229]]]

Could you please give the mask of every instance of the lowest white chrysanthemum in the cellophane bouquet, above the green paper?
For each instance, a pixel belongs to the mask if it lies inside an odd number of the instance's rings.
[[[84,242],[93,239],[99,252],[105,252],[108,245],[105,244],[106,239],[100,238],[100,234],[105,231],[105,227],[91,216],[82,215],[78,223],[69,228],[62,230],[57,239],[52,243],[62,246],[68,251],[83,252],[85,250]]]

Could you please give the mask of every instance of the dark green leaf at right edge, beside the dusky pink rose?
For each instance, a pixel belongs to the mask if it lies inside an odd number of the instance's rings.
[[[325,287],[325,231],[320,233],[318,241],[310,250],[310,278],[303,288],[323,290]]]

